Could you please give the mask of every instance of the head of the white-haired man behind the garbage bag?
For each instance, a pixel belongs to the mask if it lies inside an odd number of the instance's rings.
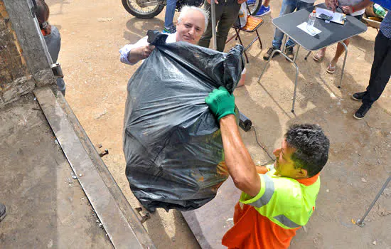
[[[195,6],[183,6],[176,24],[176,41],[187,41],[197,45],[206,26],[208,12]]]

